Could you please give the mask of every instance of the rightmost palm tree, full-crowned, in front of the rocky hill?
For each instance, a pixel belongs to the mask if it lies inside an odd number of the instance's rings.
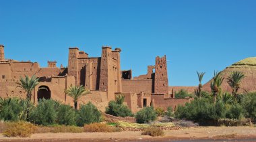
[[[234,95],[235,99],[237,99],[237,92],[243,78],[245,78],[245,74],[239,71],[231,72],[230,76],[228,76],[228,84],[232,88],[232,94]]]

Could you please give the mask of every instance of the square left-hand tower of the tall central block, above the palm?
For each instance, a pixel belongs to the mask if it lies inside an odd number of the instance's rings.
[[[77,58],[79,57],[78,48],[69,48],[69,65],[67,67],[67,74],[75,77],[75,84],[79,85],[78,78],[78,63]]]

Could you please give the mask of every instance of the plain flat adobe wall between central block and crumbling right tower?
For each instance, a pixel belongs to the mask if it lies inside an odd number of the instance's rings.
[[[152,92],[152,79],[148,80],[122,80],[123,92]]]

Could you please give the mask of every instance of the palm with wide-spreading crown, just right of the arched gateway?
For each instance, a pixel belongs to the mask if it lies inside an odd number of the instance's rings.
[[[86,90],[84,86],[71,86],[69,89],[65,90],[65,92],[73,98],[75,110],[77,110],[77,102],[78,100],[82,97],[85,96],[86,94],[89,94],[90,91]]]

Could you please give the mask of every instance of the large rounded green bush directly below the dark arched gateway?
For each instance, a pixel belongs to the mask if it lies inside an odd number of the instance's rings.
[[[40,100],[30,113],[30,121],[37,125],[53,125],[57,123],[59,102],[55,100]]]

